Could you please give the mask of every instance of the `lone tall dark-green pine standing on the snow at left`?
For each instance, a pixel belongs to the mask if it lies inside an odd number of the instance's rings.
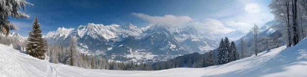
[[[37,18],[33,22],[32,29],[33,31],[29,31],[27,38],[26,51],[33,57],[45,59],[46,41],[42,38],[43,34]]]

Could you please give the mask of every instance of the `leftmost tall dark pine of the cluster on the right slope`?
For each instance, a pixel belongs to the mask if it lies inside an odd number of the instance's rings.
[[[221,40],[221,42],[220,42],[220,46],[219,46],[219,48],[217,49],[217,58],[218,58],[218,64],[225,64],[224,63],[224,40],[223,40],[223,38],[222,38],[222,40]]]

